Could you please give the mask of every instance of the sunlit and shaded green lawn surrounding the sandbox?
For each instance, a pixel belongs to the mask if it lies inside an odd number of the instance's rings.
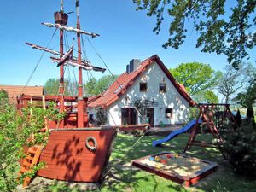
[[[119,134],[115,140],[113,153],[110,157],[108,176],[101,185],[101,191],[128,191],[128,192],[247,192],[256,191],[256,181],[250,180],[245,177],[241,177],[232,171],[232,168],[226,162],[215,148],[200,148],[192,147],[188,154],[193,157],[197,157],[203,160],[211,160],[218,163],[218,171],[212,173],[208,177],[202,179],[195,186],[190,188],[184,188],[183,185],[174,183],[170,180],[166,180],[162,177],[158,177],[149,172],[132,169],[131,166],[122,166],[126,163],[131,163],[131,160],[135,160],[146,156],[148,154],[155,154],[161,151],[173,151],[176,153],[183,152],[183,148],[187,143],[189,135],[183,134],[175,137],[169,143],[166,143],[164,147],[154,148],[152,147],[152,141],[160,139],[162,137],[145,136],[134,146],[138,137],[131,135]],[[209,141],[210,135],[198,136],[197,140]],[[99,190],[99,189],[97,189]],[[55,184],[47,191],[79,191],[79,189],[69,189],[65,185]]]

